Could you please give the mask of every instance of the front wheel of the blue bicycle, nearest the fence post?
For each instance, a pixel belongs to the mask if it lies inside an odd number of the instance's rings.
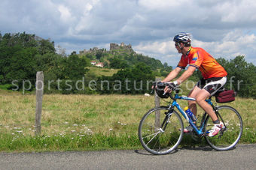
[[[155,123],[156,112],[160,114],[161,125]],[[169,110],[166,106],[151,109],[139,123],[139,141],[143,148],[151,154],[169,154],[178,147],[183,137],[184,126],[180,115],[173,111],[168,119],[167,112]],[[163,124],[165,118],[167,118],[166,128]]]

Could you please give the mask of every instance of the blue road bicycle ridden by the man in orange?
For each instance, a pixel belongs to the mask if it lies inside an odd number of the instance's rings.
[[[154,90],[156,84],[154,82]],[[197,127],[192,119],[187,116],[177,100],[195,100],[194,98],[179,96],[179,90],[175,89],[174,97],[167,106],[159,106],[150,109],[139,123],[139,141],[143,148],[151,154],[169,154],[178,148],[183,137],[184,125],[181,115],[193,127],[190,133],[194,139],[206,139],[206,142],[216,151],[227,151],[234,148],[242,136],[242,118],[239,112],[231,106],[215,106],[212,103],[212,97],[206,100],[212,106],[219,120],[224,123],[224,127],[218,135],[209,137],[209,130],[212,128],[212,119],[205,112],[203,114],[200,126]],[[175,111],[178,109],[178,112]]]

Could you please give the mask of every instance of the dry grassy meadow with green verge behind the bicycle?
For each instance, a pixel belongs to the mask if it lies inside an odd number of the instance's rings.
[[[135,149],[142,148],[137,129],[145,112],[154,107],[154,97],[44,95],[42,131],[37,137],[35,95],[6,93],[0,95],[0,103],[0,151]],[[161,104],[165,105],[163,101]],[[184,101],[180,104],[187,106]],[[236,97],[235,102],[227,104],[242,116],[244,133],[240,143],[256,142],[255,100]],[[184,139],[181,145],[194,143]]]

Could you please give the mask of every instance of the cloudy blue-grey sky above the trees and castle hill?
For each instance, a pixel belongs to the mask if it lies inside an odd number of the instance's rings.
[[[1,0],[0,31],[26,31],[66,53],[126,43],[139,54],[176,66],[175,34],[215,58],[245,55],[256,65],[254,0]]]

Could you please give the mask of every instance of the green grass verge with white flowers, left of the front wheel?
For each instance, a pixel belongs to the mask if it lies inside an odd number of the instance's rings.
[[[0,135],[1,151],[97,151],[140,148],[136,134],[62,134],[53,136]]]

